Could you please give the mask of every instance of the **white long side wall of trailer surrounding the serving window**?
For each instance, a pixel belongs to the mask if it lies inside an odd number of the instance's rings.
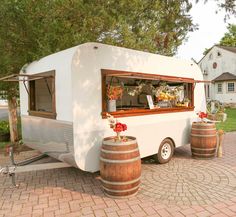
[[[99,169],[102,139],[114,135],[102,119],[101,69],[153,73],[202,80],[191,61],[131,49],[87,43],[80,45],[72,63],[72,104],[75,160],[82,170]],[[195,87],[195,111],[205,111],[203,84]],[[160,142],[171,136],[176,146],[189,142],[189,125],[195,112],[119,118],[128,125],[126,135],[137,137],[141,157],[157,153]],[[180,121],[181,120],[181,121]]]

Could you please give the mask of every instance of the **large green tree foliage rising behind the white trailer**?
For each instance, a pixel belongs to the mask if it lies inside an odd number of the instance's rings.
[[[173,55],[194,29],[187,0],[2,0],[0,73],[97,41]]]

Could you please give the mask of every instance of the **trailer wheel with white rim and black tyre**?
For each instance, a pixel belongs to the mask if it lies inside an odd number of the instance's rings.
[[[174,143],[171,139],[164,139],[161,142],[158,153],[155,155],[156,161],[164,164],[170,161],[174,153]]]

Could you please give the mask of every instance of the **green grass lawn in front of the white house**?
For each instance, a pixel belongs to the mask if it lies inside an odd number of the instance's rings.
[[[216,128],[222,129],[225,132],[236,131],[236,108],[227,108],[226,109],[227,120],[216,124]]]

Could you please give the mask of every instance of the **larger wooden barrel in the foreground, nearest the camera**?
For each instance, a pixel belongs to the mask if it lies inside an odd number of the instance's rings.
[[[141,178],[141,159],[137,140],[127,136],[127,141],[103,140],[100,156],[100,175],[106,195],[125,198],[137,193]]]

